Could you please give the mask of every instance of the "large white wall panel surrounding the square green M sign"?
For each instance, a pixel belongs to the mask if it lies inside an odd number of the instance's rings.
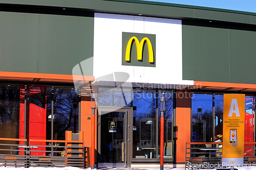
[[[122,33],[156,36],[155,67],[122,65]],[[93,75],[127,72],[127,82],[193,85],[182,80],[181,20],[95,13]]]

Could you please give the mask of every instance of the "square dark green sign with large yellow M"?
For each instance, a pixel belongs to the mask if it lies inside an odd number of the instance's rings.
[[[156,67],[156,35],[122,32],[122,65]]]

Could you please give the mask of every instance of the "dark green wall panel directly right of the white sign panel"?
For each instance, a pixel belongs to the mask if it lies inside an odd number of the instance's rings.
[[[183,80],[229,81],[228,30],[182,22]]]

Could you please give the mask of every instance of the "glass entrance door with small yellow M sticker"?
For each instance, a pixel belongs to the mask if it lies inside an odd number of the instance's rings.
[[[130,163],[132,109],[99,108],[98,167],[127,167]]]

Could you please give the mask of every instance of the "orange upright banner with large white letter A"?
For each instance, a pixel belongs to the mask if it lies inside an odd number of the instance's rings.
[[[222,163],[244,163],[245,94],[224,94]]]

